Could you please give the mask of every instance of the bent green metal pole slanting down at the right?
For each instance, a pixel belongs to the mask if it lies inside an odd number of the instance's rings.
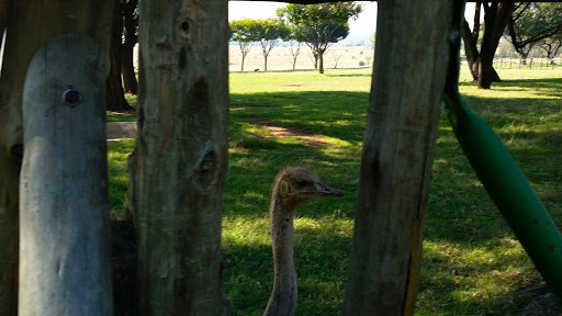
[[[443,101],[454,134],[472,168],[502,212],[542,278],[562,297],[562,235],[527,178],[490,125],[459,94],[460,32],[464,1],[450,34],[450,64]]]

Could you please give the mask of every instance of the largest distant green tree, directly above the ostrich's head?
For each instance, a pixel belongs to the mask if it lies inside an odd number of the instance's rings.
[[[349,19],[357,19],[361,4],[353,2],[288,4],[279,8],[279,18],[294,25],[295,38],[306,43],[324,74],[324,53],[349,34]],[[319,63],[318,63],[319,61]]]

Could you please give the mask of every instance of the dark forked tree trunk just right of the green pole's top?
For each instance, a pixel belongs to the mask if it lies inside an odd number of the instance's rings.
[[[493,67],[494,55],[514,5],[513,2],[476,1],[473,30],[470,30],[469,23],[464,21],[464,30],[461,33],[467,60],[472,77],[479,81],[480,89],[490,89],[492,82],[501,81]],[[484,9],[484,32],[479,50],[482,9]]]

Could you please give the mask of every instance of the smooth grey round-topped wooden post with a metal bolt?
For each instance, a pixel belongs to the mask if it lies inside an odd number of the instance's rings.
[[[54,37],[23,90],[19,315],[112,315],[105,112],[109,60]]]

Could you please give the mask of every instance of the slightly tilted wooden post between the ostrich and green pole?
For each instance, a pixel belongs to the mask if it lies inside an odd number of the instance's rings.
[[[341,313],[350,316],[413,314],[452,21],[448,0],[378,3],[376,59]]]

